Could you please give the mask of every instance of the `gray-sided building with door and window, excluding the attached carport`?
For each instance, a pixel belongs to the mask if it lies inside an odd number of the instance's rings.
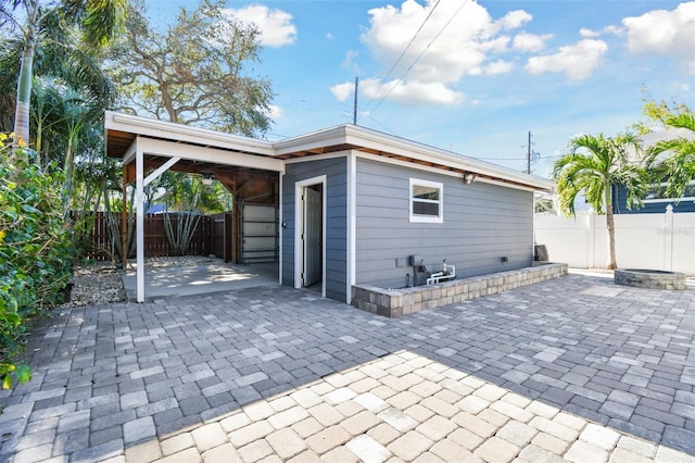
[[[425,284],[444,260],[457,276],[533,260],[534,191],[549,180],[354,125],[275,147],[294,154],[280,203],[285,285],[350,301],[353,285]]]

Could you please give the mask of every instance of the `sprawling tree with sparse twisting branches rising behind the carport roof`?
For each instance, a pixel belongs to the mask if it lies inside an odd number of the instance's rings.
[[[224,3],[182,8],[164,29],[150,24],[141,2],[131,4],[110,66],[124,111],[247,136],[268,130],[270,83],[252,75],[258,30]]]

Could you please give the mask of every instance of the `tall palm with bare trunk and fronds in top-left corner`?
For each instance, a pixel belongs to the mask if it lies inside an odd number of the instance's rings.
[[[34,59],[37,42],[45,29],[45,22],[60,15],[62,21],[71,22],[83,32],[84,40],[90,46],[106,43],[121,28],[125,17],[127,0],[61,0],[51,2],[48,9],[41,8],[41,0],[0,0],[0,24],[24,21],[20,75],[17,79],[14,133],[15,140],[29,140],[29,104],[31,99],[31,80],[34,77]],[[10,8],[7,8],[7,5]],[[24,12],[11,16],[17,8]]]

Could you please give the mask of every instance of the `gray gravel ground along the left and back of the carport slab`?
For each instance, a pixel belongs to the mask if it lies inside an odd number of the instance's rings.
[[[148,258],[146,267],[187,267],[219,261],[216,258],[186,255],[180,258]],[[222,261],[220,261],[222,262]],[[135,262],[128,263],[128,270],[135,270]],[[76,265],[71,301],[61,308],[104,304],[126,300],[122,271],[111,262],[94,262]]]

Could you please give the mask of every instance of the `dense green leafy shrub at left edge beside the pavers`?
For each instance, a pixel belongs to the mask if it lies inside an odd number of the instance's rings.
[[[31,322],[60,299],[71,273],[68,227],[59,174],[42,172],[36,153],[0,134],[0,380],[30,379],[15,364]]]

